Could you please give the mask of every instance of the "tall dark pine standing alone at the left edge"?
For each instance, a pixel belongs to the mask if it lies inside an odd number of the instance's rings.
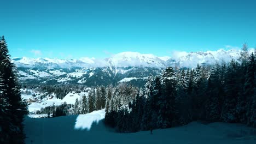
[[[24,115],[27,114],[27,104],[21,100],[18,78],[16,76],[15,66],[11,63],[10,55],[8,54],[7,43],[4,37],[0,40],[0,73],[3,80],[3,97],[7,100],[10,119],[10,125],[7,131],[3,133],[11,136],[7,137],[10,143],[24,143],[25,134],[23,133]],[[2,125],[2,124],[1,124]],[[5,140],[3,140],[5,141]]]

